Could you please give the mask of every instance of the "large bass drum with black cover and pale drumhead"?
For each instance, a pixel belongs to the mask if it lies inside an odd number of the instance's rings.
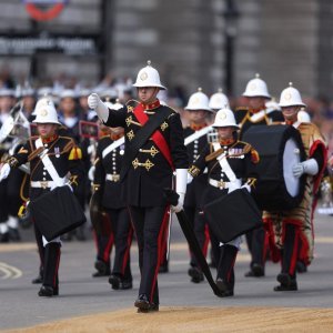
[[[254,199],[262,210],[290,210],[300,204],[305,189],[305,175],[295,178],[294,164],[305,160],[300,132],[291,125],[251,127],[243,135],[259,153],[253,170],[258,182]]]

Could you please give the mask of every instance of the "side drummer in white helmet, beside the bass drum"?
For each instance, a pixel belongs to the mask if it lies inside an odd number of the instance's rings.
[[[202,174],[208,168],[208,182],[203,203],[226,195],[240,188],[251,186],[255,183],[255,178],[250,178],[250,170],[259,162],[258,152],[249,144],[239,141],[233,112],[230,109],[221,109],[216,115],[213,127],[216,128],[219,141],[206,144],[192,167],[189,173],[192,176]],[[233,180],[233,181],[232,181]],[[221,223],[223,221],[221,215]],[[216,284],[222,296],[232,296],[234,290],[234,263],[240,250],[241,238],[238,236],[225,244],[220,243],[221,254],[216,259],[218,276]]]

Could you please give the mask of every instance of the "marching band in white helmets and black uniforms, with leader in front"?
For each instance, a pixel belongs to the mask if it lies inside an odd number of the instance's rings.
[[[272,260],[281,263],[276,278],[280,284],[274,291],[297,290],[296,272],[306,272],[313,259],[313,212],[326,165],[324,138],[314,124],[301,118],[301,109],[306,108],[301,93],[290,84],[274,102],[266,83],[256,74],[242,94],[246,105],[232,111],[221,89],[209,98],[199,88],[178,112],[168,107],[168,101],[159,100],[164,89],[159,72],[149,62],[139,71],[133,88],[128,87],[121,95],[112,87],[99,94],[91,89],[80,93],[64,89],[58,97],[51,91],[43,95],[44,91],[37,94],[31,88],[22,90],[20,112],[34,124],[30,129],[33,133],[14,149],[13,135],[1,138],[0,241],[20,240],[17,215],[22,201],[27,205],[31,193],[52,190],[52,185],[42,188],[43,181],[52,181],[46,169],[38,169],[41,163],[37,162],[36,142],[41,138],[44,147],[54,150],[50,160],[57,171],[72,171],[68,184],[82,208],[90,201],[90,211],[95,212],[91,213],[97,249],[93,278],[108,278],[113,290],[132,289],[130,249],[134,238],[141,273],[134,305],[139,312],[158,311],[158,274],[169,272],[170,219],[172,212],[184,210],[203,255],[210,256],[210,266],[216,269],[220,295],[232,296],[242,238],[221,243],[208,224],[204,204],[238,189],[255,191],[260,174],[253,173],[252,167],[259,163],[260,154],[242,139],[259,124],[289,124],[302,134],[306,152],[305,161],[292,169],[294,178],[306,179],[304,198],[293,210],[263,212],[262,228],[245,235],[251,254],[245,276],[264,276],[265,262]],[[0,125],[7,123],[14,104],[14,91],[0,90]],[[47,133],[46,124],[52,125]],[[137,144],[140,135],[147,135],[141,145]],[[58,163],[60,157],[65,160],[63,164]],[[27,161],[37,165],[30,179],[18,168]],[[165,186],[173,186],[179,194],[176,205],[170,206],[163,198]],[[28,214],[21,223],[27,221]],[[228,223],[223,215],[221,223]],[[61,240],[47,242],[38,229],[34,231],[40,269],[32,283],[42,284],[40,296],[58,295]],[[61,239],[84,240],[85,233],[83,225]],[[193,283],[204,281],[190,249],[188,274]]]

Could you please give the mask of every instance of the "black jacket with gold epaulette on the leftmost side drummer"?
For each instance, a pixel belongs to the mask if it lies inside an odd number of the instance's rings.
[[[39,137],[32,137],[17,154],[11,157],[7,162],[11,168],[30,162],[30,181],[48,182],[52,181],[51,175],[46,170],[39,153],[42,148],[36,148],[36,141]],[[54,135],[43,140],[43,147],[48,149],[48,155],[54,165],[60,178],[69,175],[70,184],[73,189],[82,181],[83,167],[81,163],[81,150],[75,145],[73,139]],[[50,191],[49,188],[30,188],[30,200]]]

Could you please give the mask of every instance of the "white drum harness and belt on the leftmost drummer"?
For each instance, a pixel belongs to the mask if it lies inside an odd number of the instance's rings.
[[[42,148],[43,143],[41,138],[36,140],[36,148]],[[47,188],[59,188],[59,186],[63,186],[65,184],[65,182],[68,181],[68,178],[60,178],[52,161],[50,160],[50,158],[48,157],[48,149],[44,149],[40,154],[39,158],[41,160],[41,162],[43,163],[46,170],[49,172],[52,181],[31,181],[31,188],[42,188],[42,189],[47,189]]]

